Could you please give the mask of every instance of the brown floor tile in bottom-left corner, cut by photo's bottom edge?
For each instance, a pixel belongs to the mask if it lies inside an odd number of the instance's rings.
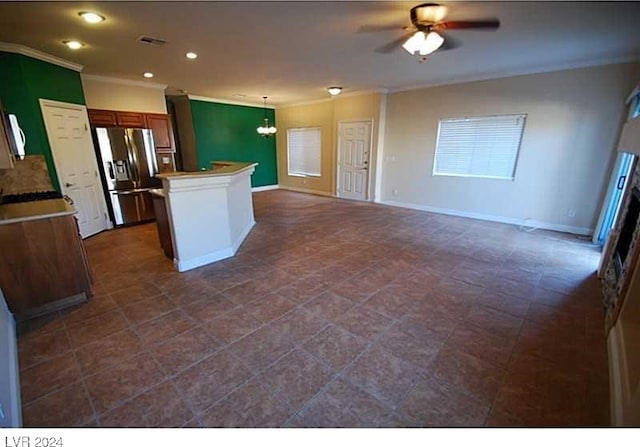
[[[94,416],[82,382],[74,382],[25,405],[24,427],[76,427]]]

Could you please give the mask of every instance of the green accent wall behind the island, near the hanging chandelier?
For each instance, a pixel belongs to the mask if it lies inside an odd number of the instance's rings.
[[[256,132],[264,122],[262,107],[194,100],[190,105],[200,169],[211,169],[216,160],[257,162],[251,186],[278,184],[275,138]],[[275,123],[273,109],[267,109],[267,118]]]

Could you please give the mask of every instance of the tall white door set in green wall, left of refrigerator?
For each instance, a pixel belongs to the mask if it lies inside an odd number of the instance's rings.
[[[78,210],[80,235],[85,238],[107,229],[107,207],[87,109],[43,99],[40,108],[62,193],[73,200]]]

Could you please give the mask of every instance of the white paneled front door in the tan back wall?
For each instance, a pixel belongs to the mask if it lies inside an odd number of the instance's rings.
[[[338,197],[367,200],[371,122],[347,122],[338,126]]]

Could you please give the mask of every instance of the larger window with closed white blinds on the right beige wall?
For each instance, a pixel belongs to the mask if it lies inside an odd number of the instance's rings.
[[[433,175],[513,180],[526,115],[440,121]]]

